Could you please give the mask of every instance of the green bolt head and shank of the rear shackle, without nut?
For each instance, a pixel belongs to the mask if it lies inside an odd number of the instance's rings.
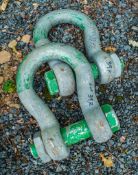
[[[91,64],[91,68],[94,79],[97,79],[99,76],[98,67],[96,66],[96,64]],[[59,87],[54,71],[50,70],[45,72],[44,79],[50,95],[57,95],[59,93]]]

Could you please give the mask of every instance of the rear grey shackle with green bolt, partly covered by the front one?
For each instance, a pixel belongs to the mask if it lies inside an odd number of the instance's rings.
[[[41,17],[35,26],[33,34],[36,47],[50,43],[48,39],[50,29],[62,23],[73,24],[84,31],[84,43],[88,60],[90,63],[93,62],[91,65],[92,72],[96,74],[95,78],[98,79],[99,83],[109,83],[121,75],[123,64],[118,56],[115,53],[107,54],[101,50],[99,32],[95,23],[79,11],[69,9],[55,10]],[[57,60],[50,61],[49,65],[54,73],[46,73],[45,80],[51,95],[55,95],[57,92],[61,96],[71,95],[75,89],[75,80],[70,67]],[[51,76],[53,77],[52,80]]]

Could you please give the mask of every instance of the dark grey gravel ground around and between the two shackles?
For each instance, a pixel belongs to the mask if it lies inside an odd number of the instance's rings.
[[[1,1],[0,1],[1,2]],[[0,117],[0,174],[1,175],[136,175],[137,174],[137,140],[136,125],[138,108],[136,95],[137,52],[136,47],[129,45],[129,40],[136,38],[136,6],[129,0],[11,0],[7,9],[0,15],[0,50],[8,49],[8,43],[19,36],[29,34],[32,37],[37,19],[44,14],[61,8],[80,10],[89,15],[100,32],[101,46],[116,48],[116,53],[126,63],[124,74],[108,85],[96,84],[96,93],[100,104],[109,103],[116,111],[121,123],[121,130],[107,143],[97,144],[91,139],[71,147],[70,156],[63,161],[51,161],[42,164],[30,154],[28,144],[33,134],[39,130],[36,121],[20,104],[18,96],[6,94],[1,90],[1,99],[11,99],[20,105],[19,109],[2,104]],[[134,27],[135,26],[135,27]],[[85,53],[82,33],[72,25],[60,25],[50,32],[52,41],[70,44]],[[30,52],[33,43],[18,41],[17,50],[23,55]],[[1,66],[0,74],[5,76],[6,69],[14,67],[20,60],[12,58]],[[42,80],[46,65],[38,71],[35,88],[44,99],[49,98],[49,106],[56,114],[61,126],[66,126],[83,118],[76,93],[68,98],[50,98],[45,92]],[[15,79],[16,71],[11,72]],[[41,83],[40,83],[41,82]],[[9,98],[8,98],[9,97]],[[13,99],[12,99],[13,98]],[[3,102],[4,103],[4,102]],[[111,156],[113,167],[107,168],[99,156]]]

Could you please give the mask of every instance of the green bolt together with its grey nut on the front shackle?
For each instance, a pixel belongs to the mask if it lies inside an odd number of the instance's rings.
[[[115,133],[120,129],[120,124],[114,110],[108,104],[102,105],[101,108],[106,116],[106,119],[109,123],[112,132]],[[67,146],[71,146],[82,140],[92,138],[92,133],[90,132],[85,120],[80,120],[65,128],[60,128],[60,133],[62,135],[64,143]],[[44,149],[40,132],[35,134],[33,142],[34,143],[30,144],[30,151],[33,157],[35,159],[40,158],[44,163],[48,162],[49,160],[47,159],[47,153]]]

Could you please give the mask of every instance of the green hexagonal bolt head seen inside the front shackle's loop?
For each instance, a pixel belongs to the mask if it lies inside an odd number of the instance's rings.
[[[45,72],[44,79],[50,95],[58,94],[59,88],[54,72],[52,70]]]

